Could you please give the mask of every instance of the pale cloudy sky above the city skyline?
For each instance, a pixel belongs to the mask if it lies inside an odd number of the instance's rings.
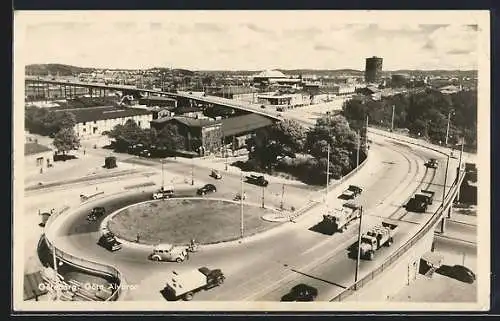
[[[461,16],[460,16],[461,17]],[[190,70],[477,69],[477,19],[338,12],[52,13],[15,16],[24,64]]]

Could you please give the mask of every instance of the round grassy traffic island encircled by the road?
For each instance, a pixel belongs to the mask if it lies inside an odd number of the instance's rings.
[[[244,236],[276,223],[261,218],[275,210],[243,205]],[[165,199],[138,203],[118,211],[108,222],[117,237],[141,244],[213,244],[240,238],[240,204],[211,199]]]

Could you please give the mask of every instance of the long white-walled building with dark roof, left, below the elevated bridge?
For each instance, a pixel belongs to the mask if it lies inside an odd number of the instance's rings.
[[[151,111],[130,107],[86,107],[86,108],[53,108],[56,112],[70,112],[75,115],[75,133],[80,138],[101,136],[111,131],[116,125],[123,125],[127,120],[134,120],[141,128],[149,128],[153,120]]]

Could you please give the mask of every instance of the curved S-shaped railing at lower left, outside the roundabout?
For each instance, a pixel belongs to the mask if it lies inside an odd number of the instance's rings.
[[[55,220],[59,216],[67,213],[69,209],[70,209],[70,206],[66,205],[61,210],[55,212],[54,214],[52,214],[50,216],[50,218],[48,219],[48,221],[45,224],[45,233],[42,235],[42,238],[45,239],[45,242],[46,242],[47,247],[49,248],[50,252],[55,253],[55,256],[57,258],[59,258],[61,261],[65,262],[71,266],[74,266],[76,268],[82,269],[84,271],[90,271],[90,272],[94,272],[97,274],[109,275],[109,276],[113,277],[115,280],[117,280],[118,282],[120,282],[120,284],[113,287],[114,290],[112,291],[111,296],[108,299],[106,299],[106,301],[116,301],[121,294],[122,286],[120,286],[120,285],[124,280],[123,275],[121,274],[120,270],[118,270],[114,266],[94,262],[92,260],[84,259],[82,257],[77,257],[75,255],[67,253],[61,249],[58,249],[55,246],[54,241],[51,240],[51,237],[52,237],[51,230],[50,230],[51,225],[55,222]]]

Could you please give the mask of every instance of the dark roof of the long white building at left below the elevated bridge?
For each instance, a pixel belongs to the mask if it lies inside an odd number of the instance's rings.
[[[87,107],[87,108],[53,108],[54,111],[68,111],[75,115],[77,123],[116,119],[133,116],[150,115],[151,111],[141,108],[130,107],[114,107],[114,106],[101,106],[101,107]]]

